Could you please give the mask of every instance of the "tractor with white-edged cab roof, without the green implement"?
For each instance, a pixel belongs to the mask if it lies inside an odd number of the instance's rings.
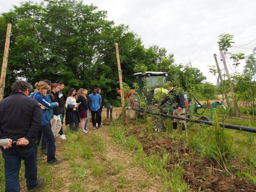
[[[145,107],[142,105],[142,103],[144,102],[147,104],[146,110],[152,111],[153,109],[151,105],[152,105],[152,100],[154,98],[154,95],[162,92],[163,93],[162,96],[165,96],[168,93],[168,90],[164,88],[159,88],[161,84],[163,85],[168,81],[168,78],[167,78],[168,74],[166,72],[147,71],[145,74],[134,73],[133,75],[137,78],[139,90],[138,92],[134,92],[134,90],[130,90],[131,95],[128,100],[128,107],[144,110]],[[159,78],[159,77],[162,77],[162,78]],[[144,82],[146,79],[148,83],[147,92],[144,95],[145,100],[142,102],[140,100],[139,95],[142,95],[144,85],[145,85]],[[159,82],[159,79],[162,82]],[[161,100],[162,98],[158,98],[158,99]],[[130,118],[134,118],[135,116],[141,116],[140,112],[135,110],[128,110],[128,114]]]

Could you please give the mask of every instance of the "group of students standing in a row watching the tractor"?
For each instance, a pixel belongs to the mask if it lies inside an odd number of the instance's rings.
[[[56,143],[60,139],[67,139],[63,134],[64,96],[62,90],[64,83],[52,83],[49,80],[41,80],[35,84],[36,89],[29,97],[36,99],[42,109],[43,122],[37,133],[38,144],[41,141],[41,153],[47,155],[48,164],[58,164],[62,160],[55,158]],[[65,107],[65,124],[69,124],[71,131],[78,131],[79,123],[82,133],[87,133],[89,112],[92,114],[93,129],[102,127],[101,112],[104,108],[104,98],[100,88],[93,87],[89,96],[88,90],[70,88]],[[96,115],[96,119],[95,119]]]

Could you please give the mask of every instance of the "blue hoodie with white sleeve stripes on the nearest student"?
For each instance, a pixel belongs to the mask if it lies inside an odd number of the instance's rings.
[[[49,96],[46,95],[45,97],[43,97],[43,95],[39,92],[32,93],[29,97],[35,98],[38,101],[38,103],[40,105],[43,105],[46,109],[51,109],[57,106],[57,103],[51,102],[51,100],[49,99]],[[49,124],[49,117],[47,115],[46,110],[42,110],[42,116],[43,116],[42,126]]]

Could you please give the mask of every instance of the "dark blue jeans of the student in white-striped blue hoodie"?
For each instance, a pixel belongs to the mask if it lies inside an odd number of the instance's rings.
[[[43,132],[45,137],[48,140],[48,148],[47,148],[47,163],[56,162],[55,151],[56,151],[56,142],[55,137],[52,133],[52,129],[49,124],[44,125],[40,128],[40,131]]]

